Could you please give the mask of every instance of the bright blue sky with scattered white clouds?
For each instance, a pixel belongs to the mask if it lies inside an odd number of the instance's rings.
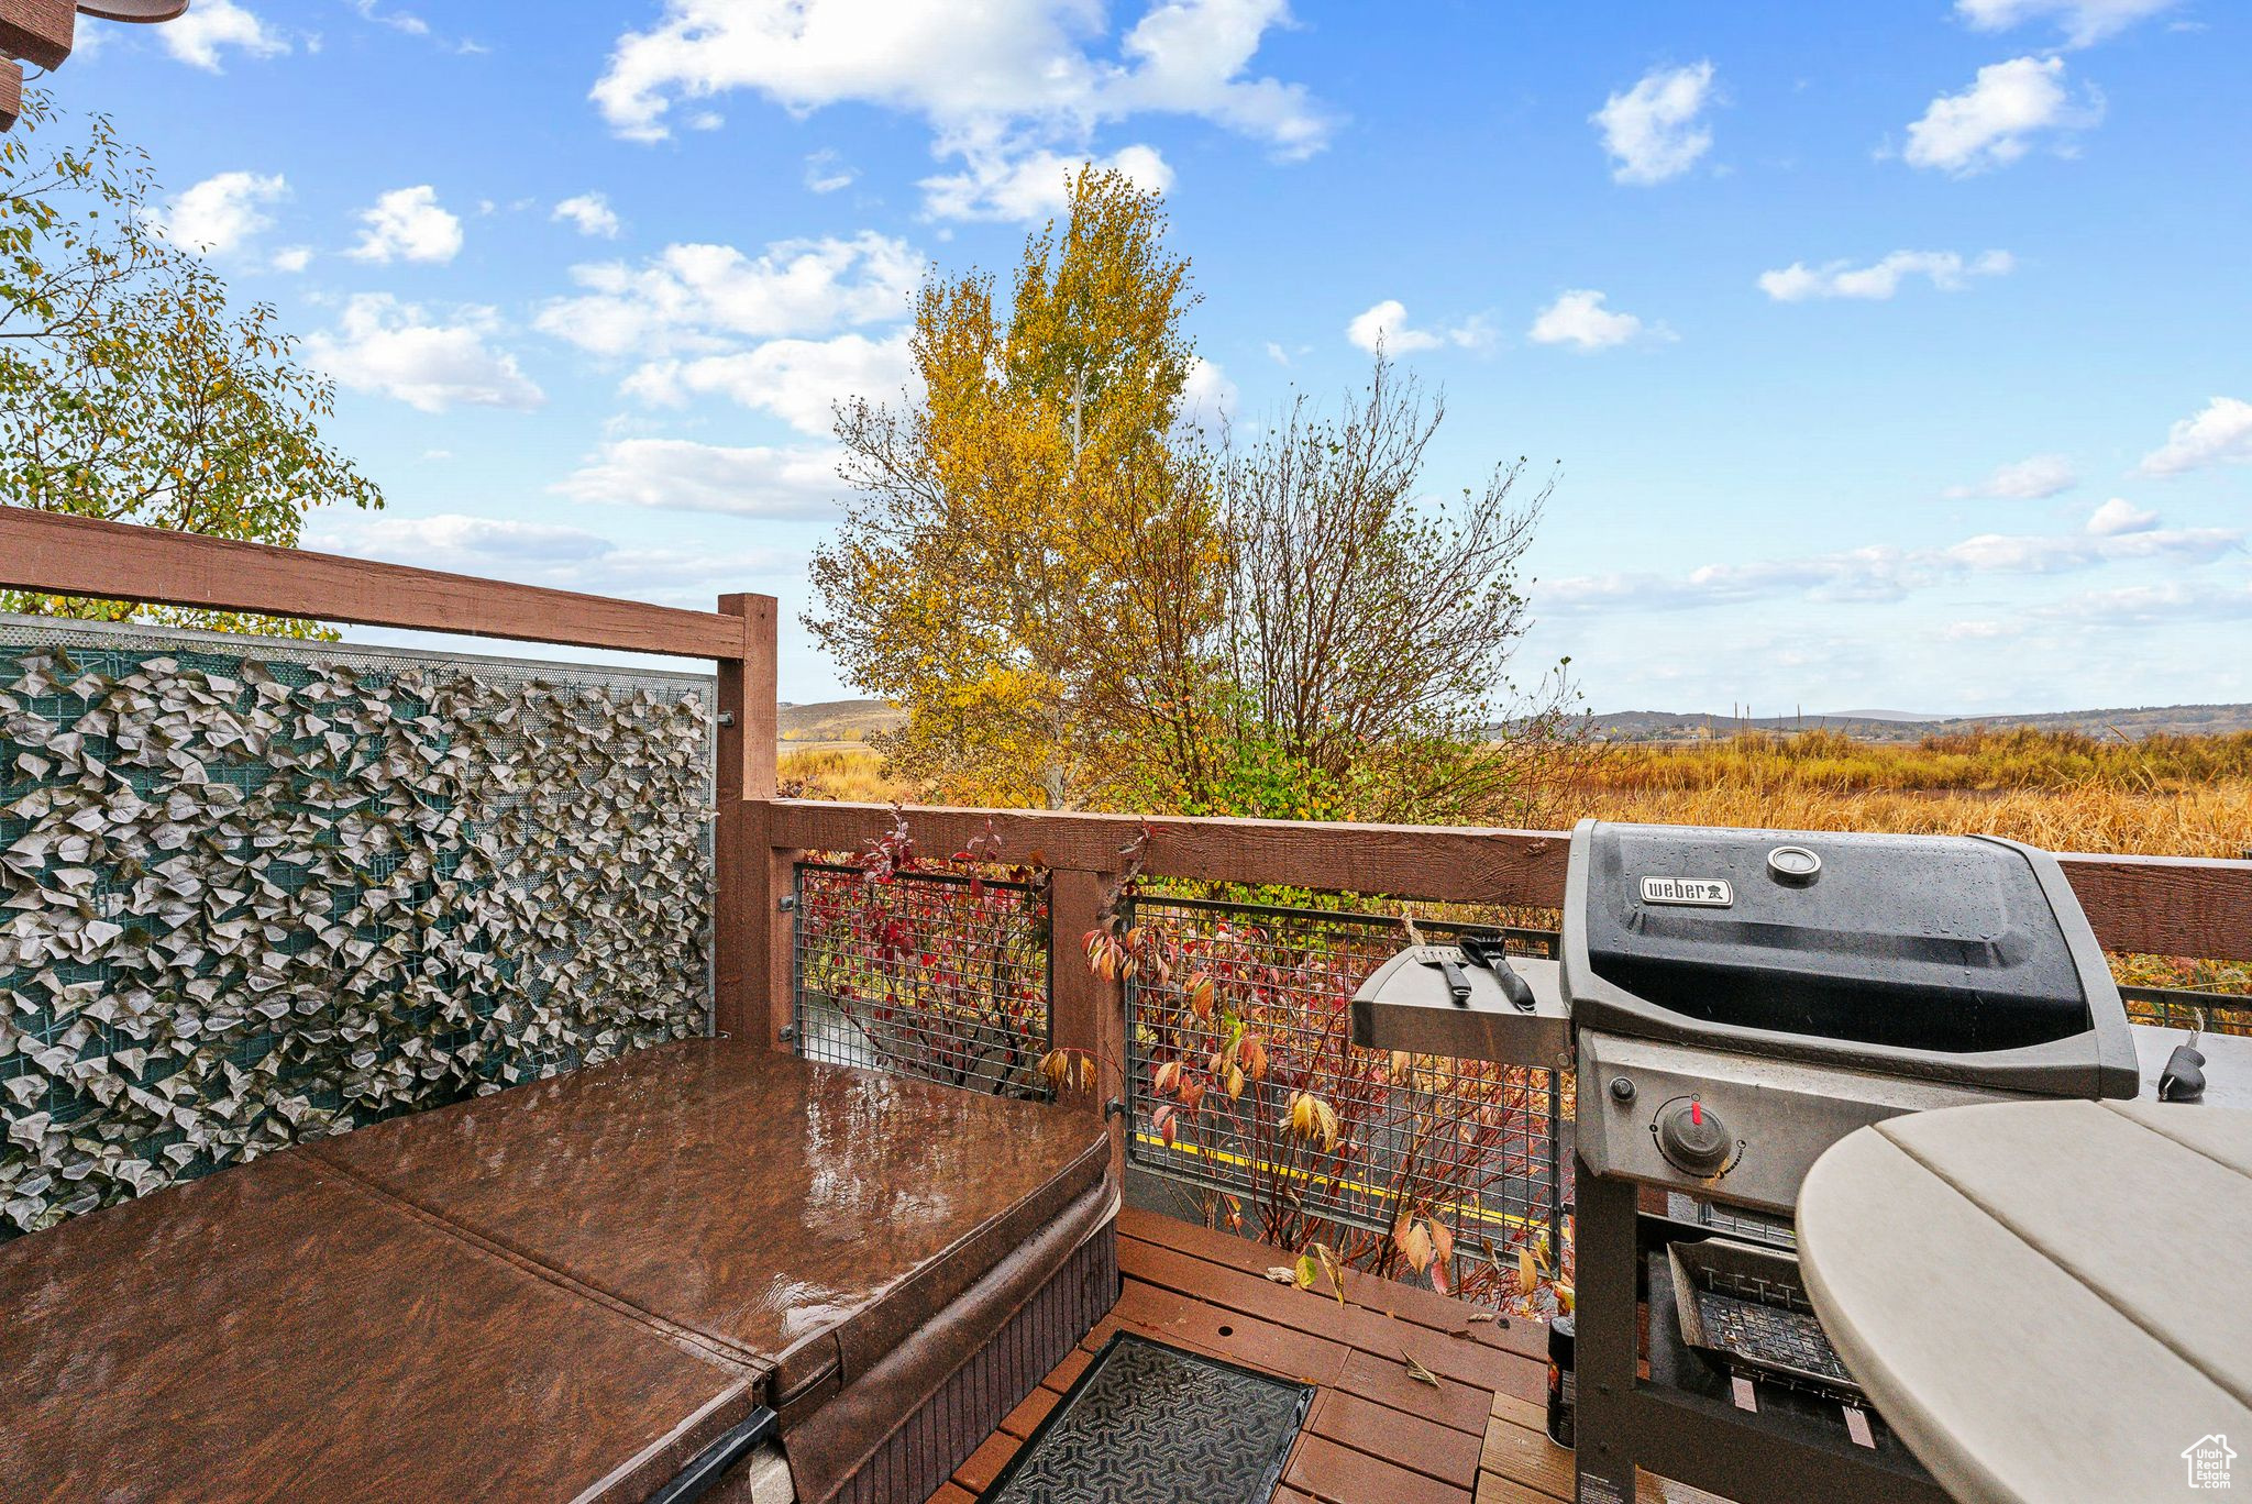
[[[54,79],[342,385],[318,547],[804,603],[826,405],[1067,164],[1167,187],[1207,412],[1389,349],[1558,468],[1597,709],[2252,700],[2252,9],[196,0]],[[802,630],[784,696],[849,693]]]

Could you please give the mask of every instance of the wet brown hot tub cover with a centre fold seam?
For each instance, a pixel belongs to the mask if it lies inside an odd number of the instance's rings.
[[[775,1405],[820,1497],[826,1400],[894,1349],[842,1409],[912,1400],[1106,1166],[1090,1114],[732,1040],[394,1119],[0,1247],[0,1479],[640,1499]]]

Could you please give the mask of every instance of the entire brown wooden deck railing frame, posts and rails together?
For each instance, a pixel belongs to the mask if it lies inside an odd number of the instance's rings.
[[[678,610],[16,507],[0,507],[0,588],[714,660],[714,1015],[727,1031],[763,1029],[775,1045],[786,1047],[790,1022],[779,901],[797,853],[856,849],[890,817],[876,804],[775,797],[772,597],[727,594],[712,612]],[[1117,984],[1074,964],[1074,950],[1144,829],[1142,865],[1158,876],[1531,907],[1561,905],[1567,849],[1561,831],[1288,820],[910,808],[908,822],[928,851],[955,851],[991,831],[1007,860],[1049,869],[1061,957],[1054,1036],[1103,1060],[1103,1081],[1076,1094],[1088,1105],[1124,1094],[1124,1006]],[[2063,862],[2108,950],[2252,961],[2252,862],[2072,853]]]

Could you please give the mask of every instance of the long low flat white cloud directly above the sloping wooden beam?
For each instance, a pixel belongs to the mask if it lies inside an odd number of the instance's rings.
[[[464,513],[430,518],[338,513],[318,520],[306,545],[324,554],[486,574],[556,590],[691,601],[705,610],[718,590],[741,590],[743,579],[793,570],[799,563],[772,549],[628,547],[581,527]]]

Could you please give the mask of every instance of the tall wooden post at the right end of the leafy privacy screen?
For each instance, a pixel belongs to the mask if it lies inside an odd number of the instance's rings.
[[[775,797],[779,732],[775,597],[723,594],[723,617],[743,621],[743,653],[718,662],[718,763],[712,822],[712,1029],[763,1029],[775,901],[763,842],[763,802]],[[752,804],[759,802],[759,804]]]

